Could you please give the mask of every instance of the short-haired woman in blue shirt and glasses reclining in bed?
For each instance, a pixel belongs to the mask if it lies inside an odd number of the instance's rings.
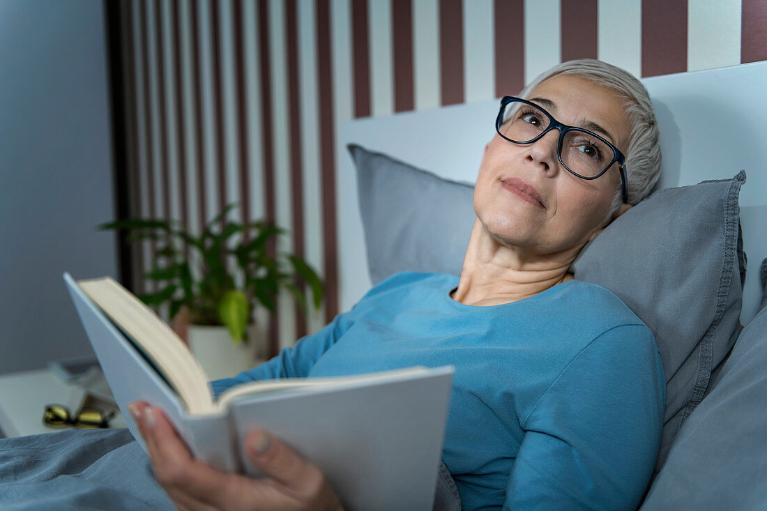
[[[213,388],[453,364],[443,462],[464,509],[636,508],[660,445],[660,355],[626,305],[568,269],[657,180],[652,107],[636,78],[599,61],[561,64],[520,95],[502,101],[479,166],[459,279],[393,275]],[[193,461],[158,410],[134,411],[180,507],[339,507],[319,470],[263,431],[250,450],[270,477],[249,480]]]

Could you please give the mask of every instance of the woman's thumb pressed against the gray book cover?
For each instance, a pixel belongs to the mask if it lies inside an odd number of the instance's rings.
[[[316,466],[262,429],[251,430],[245,437],[245,453],[265,476],[272,477],[291,490],[301,490],[321,476]]]

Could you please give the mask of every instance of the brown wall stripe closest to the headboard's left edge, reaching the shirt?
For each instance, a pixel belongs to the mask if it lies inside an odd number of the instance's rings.
[[[317,63],[324,238],[325,320],[338,313],[337,239],[335,216],[335,119],[331,61],[331,21],[328,0],[316,0]]]

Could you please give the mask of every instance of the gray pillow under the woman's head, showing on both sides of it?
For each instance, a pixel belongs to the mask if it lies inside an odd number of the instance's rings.
[[[373,282],[400,271],[459,275],[475,219],[472,187],[359,146],[349,150]],[[572,267],[576,278],[614,292],[655,335],[667,380],[656,470],[739,333],[745,180],[741,172],[653,193],[584,247]]]

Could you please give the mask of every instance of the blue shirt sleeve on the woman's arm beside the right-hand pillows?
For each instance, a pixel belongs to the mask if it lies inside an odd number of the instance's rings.
[[[649,328],[604,332],[522,421],[504,509],[637,509],[660,447],[665,401]]]

